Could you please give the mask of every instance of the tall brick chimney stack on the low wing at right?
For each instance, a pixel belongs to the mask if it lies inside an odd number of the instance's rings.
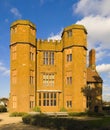
[[[93,70],[96,69],[96,63],[95,63],[95,50],[92,49],[89,52],[89,67]]]

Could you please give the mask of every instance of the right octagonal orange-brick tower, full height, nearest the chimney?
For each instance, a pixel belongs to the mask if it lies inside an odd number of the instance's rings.
[[[64,107],[68,111],[81,112],[86,101],[81,89],[86,85],[87,31],[84,26],[73,24],[64,29],[63,69]]]

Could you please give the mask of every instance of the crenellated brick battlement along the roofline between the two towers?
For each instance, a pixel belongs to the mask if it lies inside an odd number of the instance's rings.
[[[39,44],[59,44],[59,43],[61,43],[61,40],[37,39],[37,43],[39,43]]]

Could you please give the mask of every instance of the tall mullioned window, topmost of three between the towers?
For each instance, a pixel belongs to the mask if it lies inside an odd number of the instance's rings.
[[[43,52],[43,64],[54,65],[54,52]]]

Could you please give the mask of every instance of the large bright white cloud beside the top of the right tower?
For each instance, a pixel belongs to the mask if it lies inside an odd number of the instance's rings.
[[[110,18],[87,16],[77,21],[77,24],[83,24],[86,27],[89,48],[100,45],[101,49],[110,49]]]

